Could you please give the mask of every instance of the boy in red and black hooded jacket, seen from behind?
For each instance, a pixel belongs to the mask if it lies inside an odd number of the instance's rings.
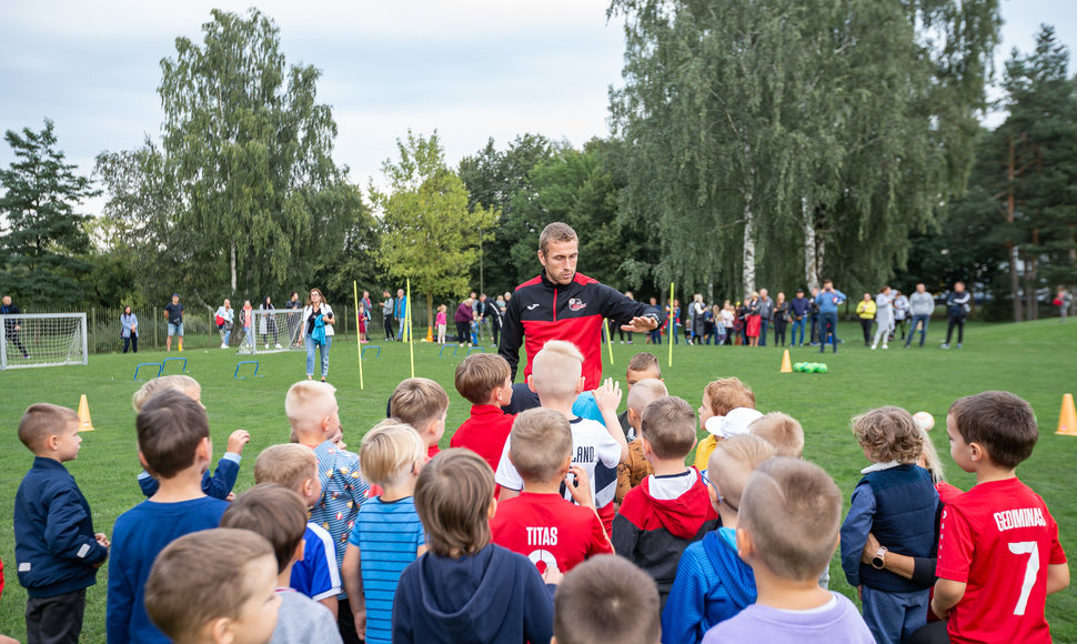
[[[681,553],[718,525],[707,485],[684,460],[695,446],[695,411],[667,395],[643,412],[640,441],[654,474],[624,497],[613,520],[613,547],[658,584],[664,607]]]

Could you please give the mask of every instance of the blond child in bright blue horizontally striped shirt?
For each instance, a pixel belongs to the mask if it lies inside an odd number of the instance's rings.
[[[359,637],[390,644],[400,573],[426,552],[413,499],[426,446],[411,425],[389,419],[363,436],[359,457],[363,476],[383,491],[359,509],[341,575]]]

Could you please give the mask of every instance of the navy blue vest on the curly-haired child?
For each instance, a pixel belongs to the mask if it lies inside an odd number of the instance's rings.
[[[875,494],[875,522],[872,524],[875,539],[898,554],[932,556],[938,492],[927,470],[913,464],[898,465],[870,472],[860,483],[870,485]],[[860,582],[877,591],[898,593],[927,587],[865,563],[860,564]]]

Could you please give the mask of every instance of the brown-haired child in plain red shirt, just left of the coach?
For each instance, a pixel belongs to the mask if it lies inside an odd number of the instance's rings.
[[[456,391],[471,403],[471,416],[449,441],[450,447],[467,447],[496,471],[515,415],[502,413],[512,402],[509,361],[496,353],[469,355],[456,366]]]

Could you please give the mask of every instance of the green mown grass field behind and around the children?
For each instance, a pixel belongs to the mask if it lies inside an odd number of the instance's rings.
[[[758,407],[781,410],[797,417],[806,434],[805,457],[824,466],[848,497],[867,463],[849,432],[849,419],[867,409],[884,404],[903,406],[910,412],[925,410],[938,423],[935,444],[947,466],[949,481],[962,489],[973,477],[960,472],[949,460],[942,424],[949,404],[959,396],[985,390],[1013,391],[1029,402],[1040,422],[1041,436],[1031,459],[1018,469],[1018,475],[1047,502],[1061,532],[1066,551],[1077,553],[1077,437],[1055,435],[1061,396],[1077,393],[1077,324],[1058,324],[1045,320],[1020,325],[972,324],[967,329],[966,349],[940,351],[940,329],[933,326],[934,341],[924,349],[868,351],[856,341],[859,326],[843,324],[841,332],[849,342],[834,355],[825,358],[809,348],[792,351],[793,361],[816,361],[829,366],[825,374],[778,373],[782,352],[775,348],[747,350],[732,346],[674,348],[673,366],[668,366],[668,348],[654,348],[662,361],[664,379],[671,393],[699,404],[704,385],[721,376],[736,375],[756,392]],[[640,335],[636,336],[641,339]],[[640,343],[613,346],[614,364],[605,361],[605,375],[624,378],[624,365],[635,351],[652,350]],[[459,426],[469,412],[467,403],[452,386],[453,370],[463,352],[437,358],[436,345],[416,344],[416,375],[432,378],[449,391],[446,432],[442,446],[447,446],[452,427]],[[173,354],[177,355],[177,354]],[[33,402],[51,402],[77,407],[79,395],[87,394],[95,431],[85,439],[79,459],[68,464],[79,481],[93,510],[94,527],[111,533],[115,517],[142,500],[135,476],[140,472],[135,456],[134,413],[131,394],[140,386],[132,381],[139,362],[160,361],[163,353],[138,355],[93,355],[88,366],[12,370],[0,373],[0,513],[12,516],[12,503],[19,481],[32,460],[19,443],[16,427],[22,411]],[[252,484],[254,457],[259,451],[285,442],[289,436],[284,419],[284,392],[304,376],[304,355],[300,353],[261,356],[259,375],[264,378],[233,380],[238,360],[232,350],[190,350],[188,373],[202,383],[202,402],[213,427],[217,456],[234,429],[246,429],[252,441],[244,453],[236,491]],[[178,372],[170,364],[170,372]],[[385,402],[393,388],[411,374],[406,346],[390,343],[380,358],[368,352],[363,361],[365,389],[360,389],[359,364],[354,342],[333,345],[330,382],[338,388],[345,440],[358,450],[363,433],[383,417]],[[847,501],[846,501],[847,503]],[[0,601],[0,633],[24,637],[22,614],[26,594],[18,584],[14,543],[10,522],[0,524],[0,557],[8,564],[7,586]],[[832,587],[855,596],[845,583],[835,559],[831,565]],[[84,642],[104,641],[105,572],[88,593]],[[1077,642],[1077,591],[1074,586],[1047,600],[1047,616],[1056,642]]]

